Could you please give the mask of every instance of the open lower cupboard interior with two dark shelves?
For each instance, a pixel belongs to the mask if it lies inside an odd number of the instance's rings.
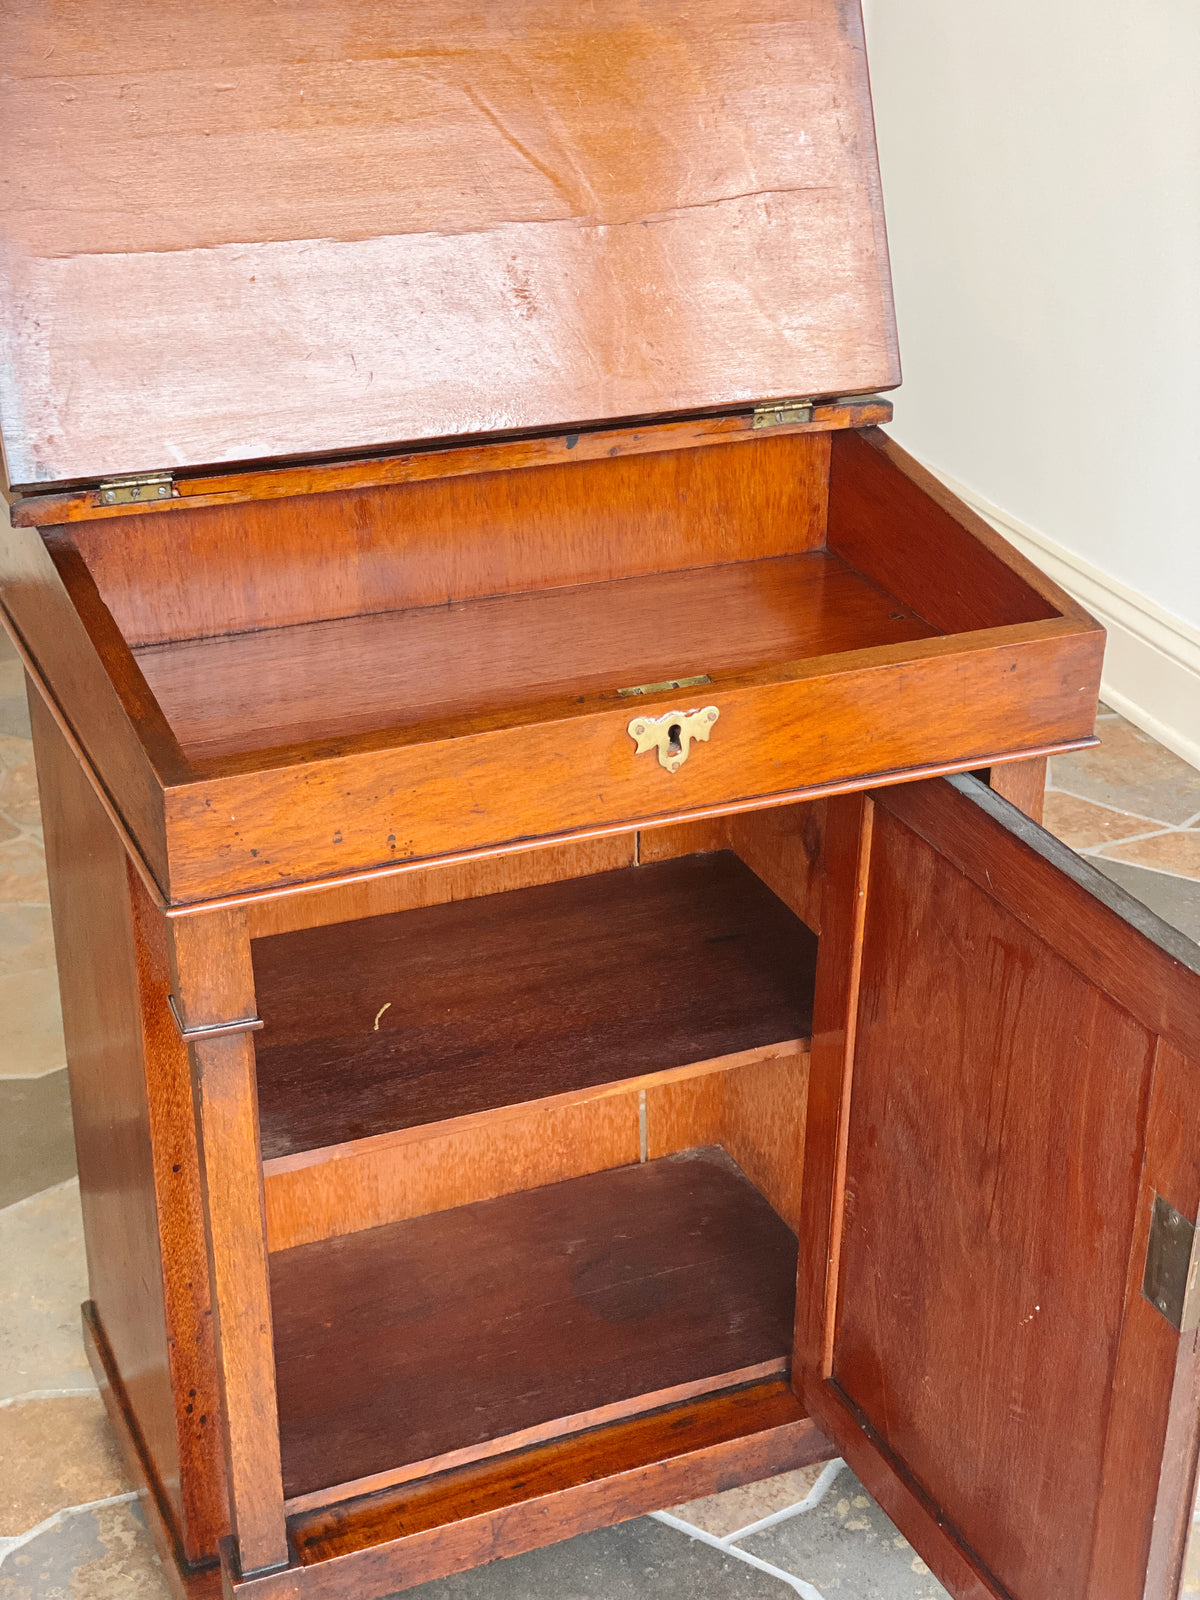
[[[818,934],[643,840],[254,939],[291,1512],[786,1378]]]

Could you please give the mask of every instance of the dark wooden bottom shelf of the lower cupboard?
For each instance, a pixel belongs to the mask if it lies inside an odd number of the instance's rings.
[[[717,1149],[270,1258],[293,1509],[787,1368],[795,1235]]]

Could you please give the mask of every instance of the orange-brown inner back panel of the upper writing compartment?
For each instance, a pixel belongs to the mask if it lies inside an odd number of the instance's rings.
[[[824,541],[829,437],[434,478],[72,534],[131,645],[554,589]]]

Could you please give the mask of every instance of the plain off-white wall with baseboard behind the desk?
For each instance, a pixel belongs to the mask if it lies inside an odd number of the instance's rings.
[[[893,432],[1101,613],[1110,698],[1200,762],[1200,3],[864,10]]]

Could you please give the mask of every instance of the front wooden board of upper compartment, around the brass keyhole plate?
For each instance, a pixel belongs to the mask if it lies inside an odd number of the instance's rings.
[[[635,755],[629,702],[605,698],[552,702],[538,720],[522,710],[408,730],[389,734],[390,747],[363,738],[354,754],[278,752],[267,768],[258,757],[203,763],[166,797],[171,894],[270,890],[1086,739],[1099,648],[1075,624],[1029,622],[790,662],[709,690],[722,720],[677,773]],[[662,714],[680,698],[638,709]]]

